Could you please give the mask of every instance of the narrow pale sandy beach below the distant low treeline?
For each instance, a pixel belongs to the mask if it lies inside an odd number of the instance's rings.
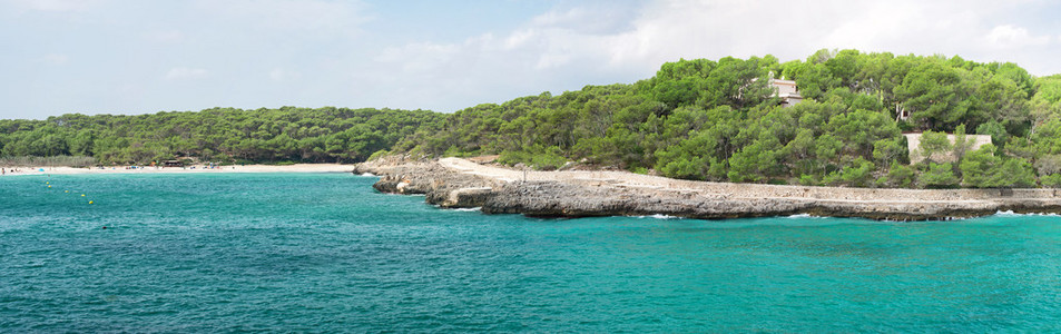
[[[3,167],[3,176],[19,175],[71,175],[71,174],[155,174],[155,173],[350,173],[354,169],[353,165],[340,164],[296,164],[287,166],[272,165],[246,165],[246,166],[220,166],[209,168],[208,166],[187,166],[187,167],[137,167],[136,169],[126,166],[116,167],[94,167],[94,168],[73,168],[73,167],[16,167],[19,171],[12,171],[11,167]]]

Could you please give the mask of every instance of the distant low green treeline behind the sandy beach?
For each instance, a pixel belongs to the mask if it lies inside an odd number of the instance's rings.
[[[0,120],[0,156],[89,156],[101,164],[194,157],[216,163],[353,163],[436,127],[431,111],[346,108],[154,115],[63,115]]]

